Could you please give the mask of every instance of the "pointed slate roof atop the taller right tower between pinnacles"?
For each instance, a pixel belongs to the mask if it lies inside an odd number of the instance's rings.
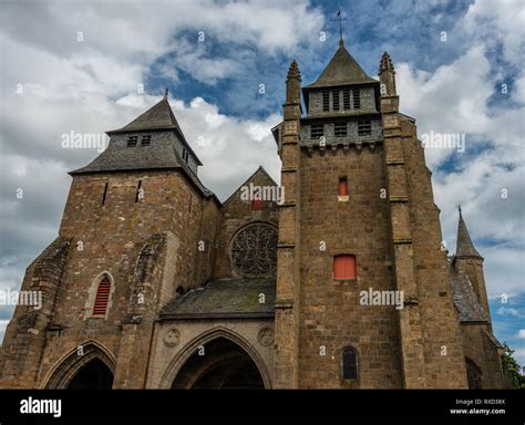
[[[363,69],[344,49],[342,40],[339,42],[339,49],[333,58],[322,71],[316,82],[305,86],[303,89],[329,87],[346,84],[367,84],[378,83],[377,80],[367,75]]]

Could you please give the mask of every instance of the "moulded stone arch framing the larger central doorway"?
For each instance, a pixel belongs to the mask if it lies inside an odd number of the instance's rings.
[[[181,352],[169,362],[163,376],[161,377],[161,388],[171,388],[173,382],[177,377],[182,367],[186,364],[189,357],[195,354],[199,346],[205,346],[207,343],[224,338],[236,345],[238,345],[254,362],[257,367],[266,390],[271,388],[271,380],[265,362],[256,349],[241,335],[237,334],[227,328],[214,328],[207,332],[202,333],[197,338],[189,341]]]

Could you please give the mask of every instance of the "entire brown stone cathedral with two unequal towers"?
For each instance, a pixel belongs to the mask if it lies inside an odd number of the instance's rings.
[[[285,95],[284,95],[285,97]],[[501,388],[483,257],[454,256],[415,120],[342,39],[286,76],[262,167],[222,203],[165,96],[70,172],[58,237],[29,265],[3,388]]]

